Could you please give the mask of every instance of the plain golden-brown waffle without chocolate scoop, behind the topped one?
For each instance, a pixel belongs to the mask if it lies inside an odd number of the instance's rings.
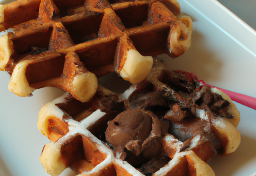
[[[29,96],[46,86],[89,101],[97,77],[116,71],[137,84],[152,57],[176,58],[191,44],[192,20],[176,0],[19,0],[0,5],[0,70]]]

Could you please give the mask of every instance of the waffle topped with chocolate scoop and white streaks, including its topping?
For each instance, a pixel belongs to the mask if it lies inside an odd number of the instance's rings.
[[[119,96],[99,85],[90,102],[65,93],[46,104],[38,128],[51,142],[40,162],[51,175],[214,176],[206,162],[236,150],[239,120],[222,91],[155,60]]]

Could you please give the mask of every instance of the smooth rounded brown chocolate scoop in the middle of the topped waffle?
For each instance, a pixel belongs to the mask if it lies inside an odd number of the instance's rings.
[[[150,111],[126,110],[110,121],[106,130],[106,140],[114,147],[122,146],[138,156],[158,154],[162,148],[160,138],[167,132],[168,123]]]

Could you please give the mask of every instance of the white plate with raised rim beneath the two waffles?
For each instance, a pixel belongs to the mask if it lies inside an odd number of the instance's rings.
[[[256,32],[216,0],[178,2],[193,20],[192,46],[180,58],[158,58],[169,68],[194,72],[207,84],[256,97]],[[9,81],[8,73],[0,72],[0,176],[48,176],[38,159],[49,142],[37,129],[38,112],[63,92],[42,88],[32,97],[18,97],[8,91]],[[216,176],[250,176],[256,171],[256,111],[236,105],[241,144],[230,156],[214,156],[208,162]],[[73,175],[70,170],[62,173]]]

